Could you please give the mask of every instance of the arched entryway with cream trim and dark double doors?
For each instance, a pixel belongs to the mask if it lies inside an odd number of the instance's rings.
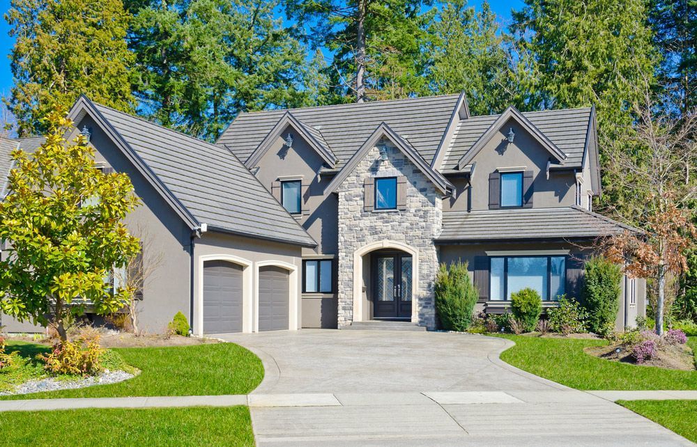
[[[353,321],[418,322],[418,251],[383,240],[353,253]]]

